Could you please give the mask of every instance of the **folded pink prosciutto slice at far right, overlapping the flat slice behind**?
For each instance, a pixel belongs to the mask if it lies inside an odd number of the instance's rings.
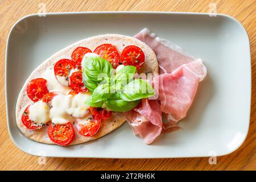
[[[154,88],[159,94],[161,110],[172,123],[184,118],[195,97],[197,86],[207,71],[200,59],[183,64],[172,73],[154,78]]]

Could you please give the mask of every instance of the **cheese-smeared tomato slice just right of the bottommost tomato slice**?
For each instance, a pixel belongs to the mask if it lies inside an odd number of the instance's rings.
[[[98,129],[100,129],[100,125],[100,120],[94,117],[90,117],[88,119],[77,122],[76,129],[81,135],[84,135],[85,137],[91,137],[97,133]]]

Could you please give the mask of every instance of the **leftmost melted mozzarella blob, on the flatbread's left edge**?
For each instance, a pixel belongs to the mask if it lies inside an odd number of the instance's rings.
[[[29,119],[35,123],[47,123],[49,118],[49,107],[45,102],[38,101],[29,107]]]

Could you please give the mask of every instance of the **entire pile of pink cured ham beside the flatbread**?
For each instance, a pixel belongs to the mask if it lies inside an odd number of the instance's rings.
[[[159,75],[152,80],[156,96],[143,99],[141,106],[125,113],[134,134],[150,144],[161,132],[180,129],[176,124],[187,115],[207,69],[201,59],[195,59],[146,28],[134,37],[152,48],[159,64]],[[168,122],[163,122],[162,117]]]

